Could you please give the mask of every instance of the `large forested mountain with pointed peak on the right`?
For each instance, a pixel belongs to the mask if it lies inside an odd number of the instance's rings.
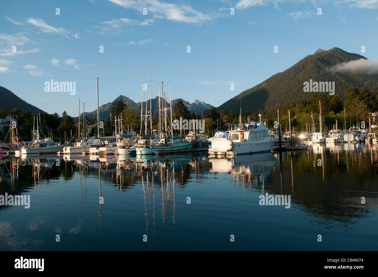
[[[340,63],[359,59],[366,57],[345,52],[337,47],[328,51],[319,48],[314,54],[304,57],[287,70],[274,74],[253,88],[243,91],[242,111],[271,110],[280,105],[289,105],[301,98],[311,100],[316,92],[303,90],[304,82],[310,82],[310,79],[317,82],[335,82],[335,95],[339,95],[342,99],[349,87],[365,87],[367,90],[377,87],[377,73],[341,73],[330,70]],[[217,109],[240,111],[240,94]]]

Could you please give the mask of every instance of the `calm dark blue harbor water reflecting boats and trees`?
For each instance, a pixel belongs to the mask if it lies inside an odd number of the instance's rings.
[[[30,207],[0,206],[0,249],[377,250],[377,151],[3,158],[0,195],[30,195]],[[260,205],[265,193],[290,195],[290,208]]]

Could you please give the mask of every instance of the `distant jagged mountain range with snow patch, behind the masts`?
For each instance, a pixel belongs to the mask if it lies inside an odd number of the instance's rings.
[[[127,105],[128,108],[132,108],[137,113],[141,112],[142,102],[135,103],[129,97],[120,95],[114,101],[108,102],[107,104],[104,104],[104,105],[101,105],[99,107],[99,116],[101,118],[107,118],[110,115],[110,109],[112,108],[113,102],[119,101],[119,100],[122,100]],[[196,112],[202,113],[202,111],[204,113],[206,113],[208,111],[208,108],[211,107],[210,104],[207,104],[207,103],[199,101],[199,100],[196,100],[193,103],[189,103],[189,102],[185,101],[184,99],[178,98],[178,99],[172,100],[172,108],[174,107],[175,103],[177,103],[177,101],[179,101],[179,100],[183,101],[184,104],[186,105],[188,111],[193,112],[193,113],[196,113]],[[163,102],[163,98],[160,97],[160,101]],[[156,115],[156,113],[158,112],[157,111],[158,106],[159,106],[158,103],[159,103],[159,97],[158,96],[151,99],[152,115]],[[166,105],[169,106],[169,102],[166,102]],[[147,108],[148,108],[148,110],[150,109],[150,101],[149,100],[147,101]],[[146,102],[143,102],[143,111],[145,111],[145,109],[146,109]],[[96,110],[91,111],[89,113],[85,112],[85,115],[87,115],[88,118],[94,118],[94,117],[97,116]]]

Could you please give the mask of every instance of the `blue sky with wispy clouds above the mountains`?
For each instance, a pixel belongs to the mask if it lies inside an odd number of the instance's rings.
[[[152,97],[170,82],[172,99],[218,107],[318,48],[378,60],[377,27],[378,0],[2,1],[0,85],[76,116],[79,98],[96,109],[96,77],[102,105],[140,102],[151,74]],[[51,79],[75,94],[45,91]]]

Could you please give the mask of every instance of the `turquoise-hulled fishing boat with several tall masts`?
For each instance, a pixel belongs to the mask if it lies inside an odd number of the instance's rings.
[[[163,83],[161,84],[162,96],[164,95]],[[187,141],[185,138],[173,135],[173,122],[172,122],[172,97],[170,92],[169,82],[169,98],[170,106],[167,107],[167,101],[163,97],[164,103],[160,103],[160,84],[159,84],[159,137],[158,143],[153,143],[155,138],[150,139],[150,143],[146,141],[144,145],[136,145],[136,155],[151,155],[155,151],[166,150],[183,150],[192,149],[194,142]],[[167,125],[167,117],[170,114],[170,126]],[[170,135],[169,135],[170,133]]]

